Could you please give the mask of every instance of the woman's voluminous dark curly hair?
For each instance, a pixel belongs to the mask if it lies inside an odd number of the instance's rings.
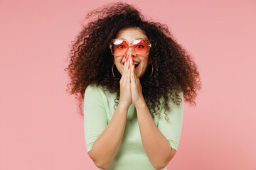
[[[67,91],[71,86],[70,94],[75,94],[78,99],[80,115],[83,115],[85,89],[90,84],[102,86],[110,93],[117,93],[114,107],[118,104],[119,80],[112,75],[114,60],[109,45],[122,28],[140,28],[151,42],[149,57],[154,65],[154,73],[150,77],[152,68],[148,67],[140,82],[152,118],[154,113],[159,115],[161,98],[164,99],[165,111],[171,109],[169,99],[179,105],[182,101],[178,96],[180,92],[183,92],[186,102],[196,106],[196,91],[201,89],[197,66],[188,52],[174,40],[166,25],[146,21],[134,6],[125,3],[97,8],[87,13],[85,20],[87,24],[82,26],[72,42],[69,65],[65,68],[71,80]],[[116,77],[121,76],[119,72],[114,74]]]

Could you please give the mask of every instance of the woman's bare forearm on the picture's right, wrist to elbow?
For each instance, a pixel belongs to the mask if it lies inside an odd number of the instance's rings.
[[[145,102],[137,106],[137,118],[142,144],[151,164],[155,169],[164,168],[171,160],[171,147],[166,137],[154,124]]]

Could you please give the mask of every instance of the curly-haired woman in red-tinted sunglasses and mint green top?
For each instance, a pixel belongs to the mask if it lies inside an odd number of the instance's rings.
[[[167,169],[178,149],[183,99],[196,104],[196,64],[166,26],[110,4],[71,50],[71,94],[84,101],[87,153],[100,169]],[[155,116],[156,115],[156,116]]]

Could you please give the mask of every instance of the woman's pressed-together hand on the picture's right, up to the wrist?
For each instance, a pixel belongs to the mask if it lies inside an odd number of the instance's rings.
[[[132,62],[132,60],[131,60]],[[139,78],[135,74],[135,65],[130,63],[131,69],[131,93],[132,93],[132,103],[135,107],[139,106],[144,102],[144,96],[142,94],[142,85],[140,84]]]

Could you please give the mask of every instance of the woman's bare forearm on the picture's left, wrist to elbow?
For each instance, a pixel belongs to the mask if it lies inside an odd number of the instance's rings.
[[[92,146],[90,157],[100,168],[107,169],[118,152],[124,134],[127,111],[128,108],[117,106],[107,128]]]

